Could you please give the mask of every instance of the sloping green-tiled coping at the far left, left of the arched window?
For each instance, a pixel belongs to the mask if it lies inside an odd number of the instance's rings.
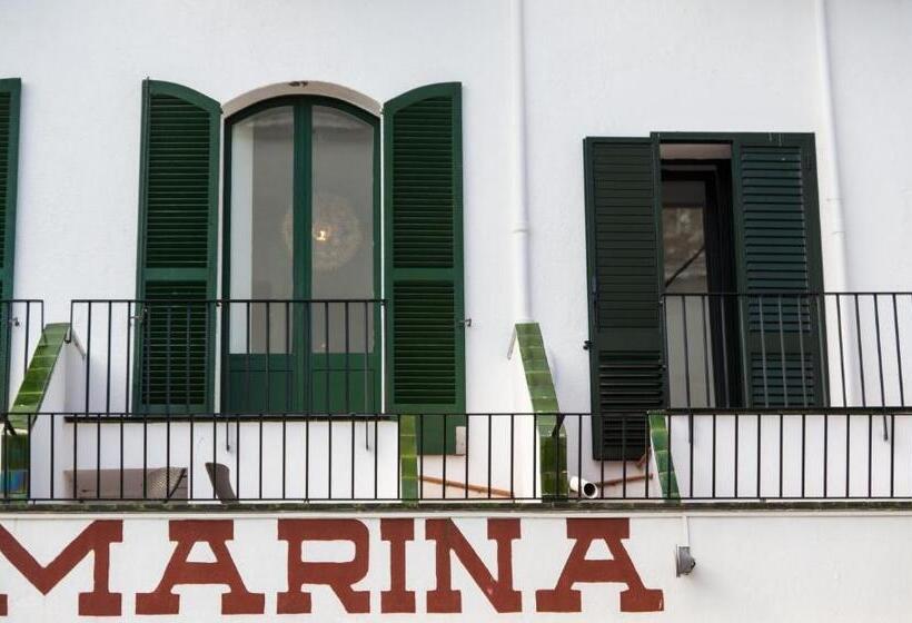
[[[6,464],[10,472],[28,471],[29,468],[29,432],[33,422],[32,416],[41,411],[51,373],[53,373],[60,357],[63,339],[67,337],[70,325],[67,323],[47,325],[41,333],[38,345],[34,347],[29,368],[26,370],[8,416],[14,435],[4,435],[3,437],[3,451],[7,455]],[[28,481],[27,477],[23,482],[26,481]],[[13,491],[9,493],[24,494],[24,492]]]

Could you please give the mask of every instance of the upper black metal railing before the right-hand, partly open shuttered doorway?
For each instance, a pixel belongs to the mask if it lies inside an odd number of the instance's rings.
[[[908,406],[912,294],[667,294],[673,408]]]

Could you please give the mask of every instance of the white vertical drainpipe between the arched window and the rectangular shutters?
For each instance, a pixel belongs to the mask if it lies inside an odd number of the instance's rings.
[[[513,315],[516,323],[532,320],[529,280],[529,221],[526,198],[526,77],[523,0],[510,0],[510,99],[512,113],[512,238],[513,238]]]

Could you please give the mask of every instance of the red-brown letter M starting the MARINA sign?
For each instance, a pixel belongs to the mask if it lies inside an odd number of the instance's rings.
[[[108,590],[111,543],[123,540],[123,522],[96,521],[73,538],[47,566],[42,566],[4,527],[0,526],[0,553],[42,595],[92,553],[93,575],[90,593],[79,593],[80,616],[120,616],[120,593]],[[0,616],[7,615],[7,595],[0,594]]]

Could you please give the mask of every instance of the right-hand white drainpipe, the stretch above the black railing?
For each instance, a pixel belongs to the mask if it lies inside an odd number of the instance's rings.
[[[836,137],[836,116],[833,110],[832,68],[830,65],[830,29],[826,19],[826,0],[816,0],[817,14],[817,58],[820,59],[821,81],[821,128],[825,145],[829,147],[826,177],[821,199],[825,206],[830,222],[830,261],[826,264],[826,289],[846,291],[849,287],[849,265],[846,259],[845,225],[842,208],[840,182],[839,142]]]

